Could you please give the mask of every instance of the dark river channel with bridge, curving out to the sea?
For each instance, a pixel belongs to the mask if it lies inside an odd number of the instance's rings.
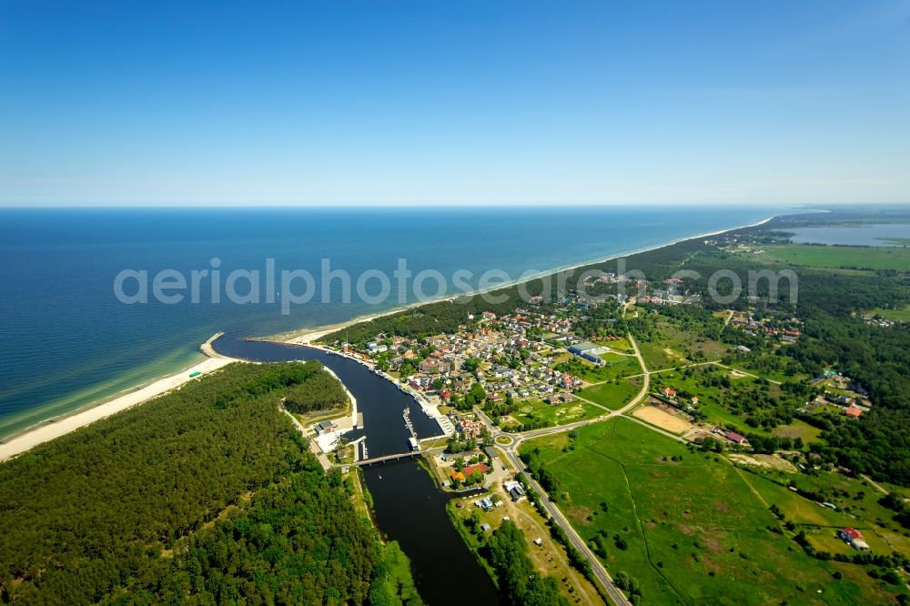
[[[411,435],[403,418],[405,409],[410,409],[410,421],[419,438],[442,435],[439,424],[409,394],[353,359],[304,345],[248,341],[230,335],[217,338],[212,348],[230,358],[256,362],[322,362],[357,399],[363,428],[349,437],[365,437],[370,458],[408,451]],[[500,603],[490,576],[449,520],[445,507],[452,495],[439,490],[419,462],[406,460],[365,468],[363,475],[373,497],[379,531],[389,540],[399,541],[426,603]]]

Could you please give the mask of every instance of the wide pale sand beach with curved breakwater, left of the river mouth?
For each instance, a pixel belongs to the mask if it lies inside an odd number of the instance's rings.
[[[190,377],[191,374],[199,372],[205,375],[225,367],[231,362],[237,361],[221,356],[211,347],[212,341],[223,334],[224,333],[221,332],[216,333],[204,343],[200,344],[199,350],[202,351],[207,358],[188,369],[181,370],[176,374],[168,375],[161,379],[156,379],[151,383],[133,389],[122,396],[117,396],[114,399],[108,399],[107,401],[98,403],[90,409],[84,409],[61,418],[52,418],[54,420],[46,419],[42,424],[26,429],[24,432],[15,434],[6,439],[5,442],[0,443],[0,461],[12,459],[39,444],[44,444],[52,439],[60,438],[76,429],[86,427],[86,425],[90,425],[96,420],[106,419],[106,417],[114,415],[117,412],[130,409],[137,404],[142,404],[143,402],[163,395],[168,391],[178,389],[192,379],[195,379],[195,377]]]

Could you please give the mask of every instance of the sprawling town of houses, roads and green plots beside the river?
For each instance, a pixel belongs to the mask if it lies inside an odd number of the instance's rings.
[[[635,294],[621,294],[619,285]],[[680,278],[642,283],[603,271],[585,278],[583,286],[596,298],[570,292],[548,305],[535,297],[509,313],[468,315],[452,332],[420,338],[379,332],[319,347],[367,365],[438,421],[440,435],[418,439],[410,428],[413,437],[402,447],[420,454],[440,489],[455,493],[453,520],[482,535],[504,521],[527,518],[523,530],[548,554],[541,557],[578,550],[598,577],[602,567],[593,547],[571,524],[559,523],[563,547],[536,530],[560,520],[561,498],[538,496],[551,487],[529,473],[521,444],[566,434],[571,444],[577,429],[621,416],[692,451],[723,453],[733,464],[762,473],[852,473],[804,446],[818,435],[815,416],[856,422],[874,408],[873,399],[842,369],[817,377],[789,369],[788,348],[805,330],[793,308],[770,308],[761,299],[750,299],[745,308],[707,308]],[[647,338],[633,337],[632,321],[648,327],[640,328]],[[803,399],[794,400],[788,381],[803,386]],[[773,406],[771,416],[753,409],[752,398]],[[791,408],[782,408],[784,401]],[[410,424],[407,413],[404,421]],[[774,430],[781,424],[783,433]],[[320,442],[326,455],[346,444],[339,439],[344,428],[329,424],[315,433],[331,436]],[[369,461],[366,445],[339,463],[358,459]],[[839,521],[850,518],[850,507],[824,490],[801,490],[790,482],[789,490],[813,507],[846,512]],[[856,554],[881,553],[869,532],[854,520],[835,528],[831,538]],[[814,543],[794,534],[804,550],[814,552]],[[563,579],[570,581],[571,575]],[[612,601],[626,603],[621,595],[611,594]]]

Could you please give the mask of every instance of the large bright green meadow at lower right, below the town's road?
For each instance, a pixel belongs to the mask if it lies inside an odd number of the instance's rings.
[[[608,571],[639,582],[644,603],[893,601],[897,589],[872,580],[864,568],[814,560],[766,528],[778,523],[769,502],[806,520],[836,522],[835,512],[796,508],[784,487],[765,480],[755,488],[761,478],[628,419],[578,434],[574,449],[563,451],[568,439],[555,436],[526,442],[522,451],[540,449],[567,495],[561,509],[599,546]],[[844,579],[835,581],[835,570]]]

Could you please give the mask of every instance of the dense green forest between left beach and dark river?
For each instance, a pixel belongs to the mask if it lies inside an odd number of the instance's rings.
[[[279,410],[327,378],[232,364],[0,464],[0,601],[420,603]]]

